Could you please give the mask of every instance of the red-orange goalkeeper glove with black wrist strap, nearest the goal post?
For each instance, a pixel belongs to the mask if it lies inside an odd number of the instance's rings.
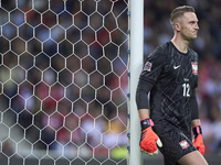
[[[148,154],[149,156],[154,156],[158,154],[158,148],[162,146],[162,143],[159,139],[159,136],[152,131],[151,127],[154,125],[154,122],[151,119],[141,119],[141,136],[140,136],[140,150],[141,152]],[[157,143],[157,145],[156,145]]]

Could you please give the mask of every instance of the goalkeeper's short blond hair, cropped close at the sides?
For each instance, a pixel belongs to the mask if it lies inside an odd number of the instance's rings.
[[[170,13],[170,23],[171,25],[175,24],[175,20],[177,18],[180,18],[183,15],[183,13],[186,12],[196,12],[194,8],[189,7],[189,6],[182,6],[182,7],[177,7],[172,10],[172,12]]]

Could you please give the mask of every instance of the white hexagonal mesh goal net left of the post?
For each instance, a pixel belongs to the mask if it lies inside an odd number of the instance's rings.
[[[1,0],[0,161],[122,164],[127,0]]]

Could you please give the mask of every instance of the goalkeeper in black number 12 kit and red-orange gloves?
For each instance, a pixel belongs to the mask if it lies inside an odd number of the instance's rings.
[[[159,148],[165,165],[207,165],[196,97],[198,54],[188,46],[199,30],[194,9],[176,8],[170,23],[173,37],[147,57],[137,86],[140,150],[151,156]]]

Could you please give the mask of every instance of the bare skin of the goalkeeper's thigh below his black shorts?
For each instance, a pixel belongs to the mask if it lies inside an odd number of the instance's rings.
[[[198,152],[193,151],[178,161],[181,165],[208,165],[204,157]]]

